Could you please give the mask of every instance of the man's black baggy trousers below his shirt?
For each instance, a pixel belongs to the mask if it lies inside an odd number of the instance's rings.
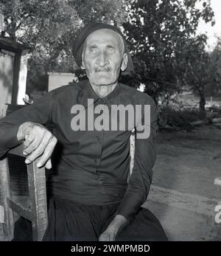
[[[73,201],[49,200],[49,225],[43,241],[98,241],[114,218],[119,204],[89,206]],[[29,221],[15,223],[13,241],[32,241]],[[116,241],[167,241],[164,229],[155,215],[141,208],[116,237]]]

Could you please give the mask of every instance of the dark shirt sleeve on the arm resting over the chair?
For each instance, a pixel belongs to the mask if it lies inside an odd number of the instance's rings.
[[[17,139],[19,126],[24,122],[38,122],[46,125],[50,120],[52,93],[35,100],[32,105],[24,106],[0,120],[0,157],[10,148],[20,144]]]

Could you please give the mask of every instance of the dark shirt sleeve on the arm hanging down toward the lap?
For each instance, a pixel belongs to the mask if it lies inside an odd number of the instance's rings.
[[[133,171],[128,181],[127,190],[116,212],[116,215],[123,215],[129,222],[144,204],[144,201],[147,200],[152,182],[152,167],[156,159],[154,141],[158,129],[158,115],[152,99],[149,105],[150,113],[144,112],[146,119],[143,116],[141,122],[145,127],[149,127],[150,136],[146,139],[138,138],[138,131],[136,130]]]

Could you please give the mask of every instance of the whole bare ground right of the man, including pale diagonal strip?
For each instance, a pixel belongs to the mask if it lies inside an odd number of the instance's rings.
[[[160,131],[153,189],[145,204],[159,218],[171,241],[221,241],[214,207],[221,189],[221,129],[204,125],[193,131]],[[221,204],[221,203],[220,203]]]

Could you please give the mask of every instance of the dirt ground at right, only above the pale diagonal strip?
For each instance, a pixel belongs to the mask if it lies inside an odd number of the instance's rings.
[[[153,184],[199,196],[219,196],[214,179],[221,176],[220,128],[204,125],[190,132],[160,131],[157,151]]]

